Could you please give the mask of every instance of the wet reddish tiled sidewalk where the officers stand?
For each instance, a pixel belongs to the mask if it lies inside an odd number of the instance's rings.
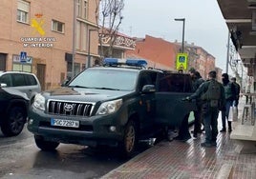
[[[241,100],[241,106],[244,104]],[[221,129],[221,114],[219,115]],[[239,144],[230,139],[230,133],[219,133],[216,148],[202,148],[200,138],[160,142],[130,161],[102,176],[102,179],[199,179],[199,178],[256,178],[256,154],[237,152]],[[256,151],[255,151],[256,152]]]

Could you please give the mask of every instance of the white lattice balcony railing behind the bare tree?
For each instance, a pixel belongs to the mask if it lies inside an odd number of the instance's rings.
[[[101,39],[102,39],[102,44],[103,45],[110,45],[111,38],[110,38],[109,35],[102,34]],[[129,37],[124,37],[124,36],[117,35],[114,45],[124,47],[124,48],[135,49],[136,41],[132,38],[129,38]]]

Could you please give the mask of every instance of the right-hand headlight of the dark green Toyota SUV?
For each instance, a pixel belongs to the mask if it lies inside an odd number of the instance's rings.
[[[121,104],[122,104],[122,99],[117,99],[114,101],[108,101],[108,102],[102,103],[100,107],[97,109],[96,114],[104,115],[104,114],[110,114],[110,113],[116,112],[117,109],[120,108]]]

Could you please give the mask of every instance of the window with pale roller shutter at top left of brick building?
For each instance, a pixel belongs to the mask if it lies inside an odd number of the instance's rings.
[[[29,23],[30,3],[18,0],[17,2],[17,21]]]

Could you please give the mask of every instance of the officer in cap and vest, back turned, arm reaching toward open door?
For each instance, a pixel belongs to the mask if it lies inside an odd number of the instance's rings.
[[[208,80],[192,95],[183,100],[201,99],[203,101],[203,124],[205,129],[205,141],[202,147],[216,147],[218,135],[218,115],[220,106],[224,106],[224,87],[216,80],[216,71],[208,73]]]

